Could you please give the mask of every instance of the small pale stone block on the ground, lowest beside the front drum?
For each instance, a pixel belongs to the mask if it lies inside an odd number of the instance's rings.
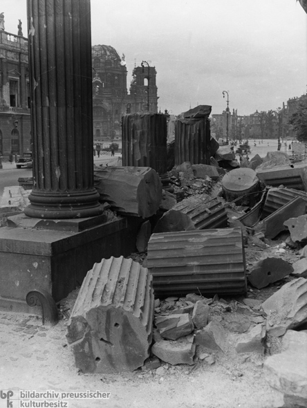
[[[151,352],[160,360],[171,365],[176,364],[194,364],[196,345],[188,342],[185,337],[176,342],[167,342],[162,340],[151,347]]]

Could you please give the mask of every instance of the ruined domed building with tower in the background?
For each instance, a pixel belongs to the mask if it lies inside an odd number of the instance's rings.
[[[93,132],[95,140],[121,138],[121,118],[125,113],[158,112],[156,68],[136,66],[130,93],[127,91],[127,68],[111,46],[92,47]],[[149,92],[149,93],[148,93]]]

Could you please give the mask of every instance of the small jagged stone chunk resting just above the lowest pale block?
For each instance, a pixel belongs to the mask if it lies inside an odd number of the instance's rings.
[[[155,319],[160,335],[165,339],[177,340],[192,333],[194,326],[188,313],[183,315],[158,316]]]

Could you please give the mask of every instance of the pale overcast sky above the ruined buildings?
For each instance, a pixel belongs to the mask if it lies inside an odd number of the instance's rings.
[[[26,36],[26,0],[1,0],[6,31]],[[306,93],[307,15],[295,0],[91,0],[92,44],[126,55],[127,84],[156,66],[158,106],[178,114],[268,111]]]

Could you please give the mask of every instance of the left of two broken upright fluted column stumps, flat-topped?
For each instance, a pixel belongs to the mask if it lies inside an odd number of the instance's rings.
[[[162,113],[131,113],[122,117],[122,165],[151,167],[159,174],[163,189],[167,176],[167,116]]]

